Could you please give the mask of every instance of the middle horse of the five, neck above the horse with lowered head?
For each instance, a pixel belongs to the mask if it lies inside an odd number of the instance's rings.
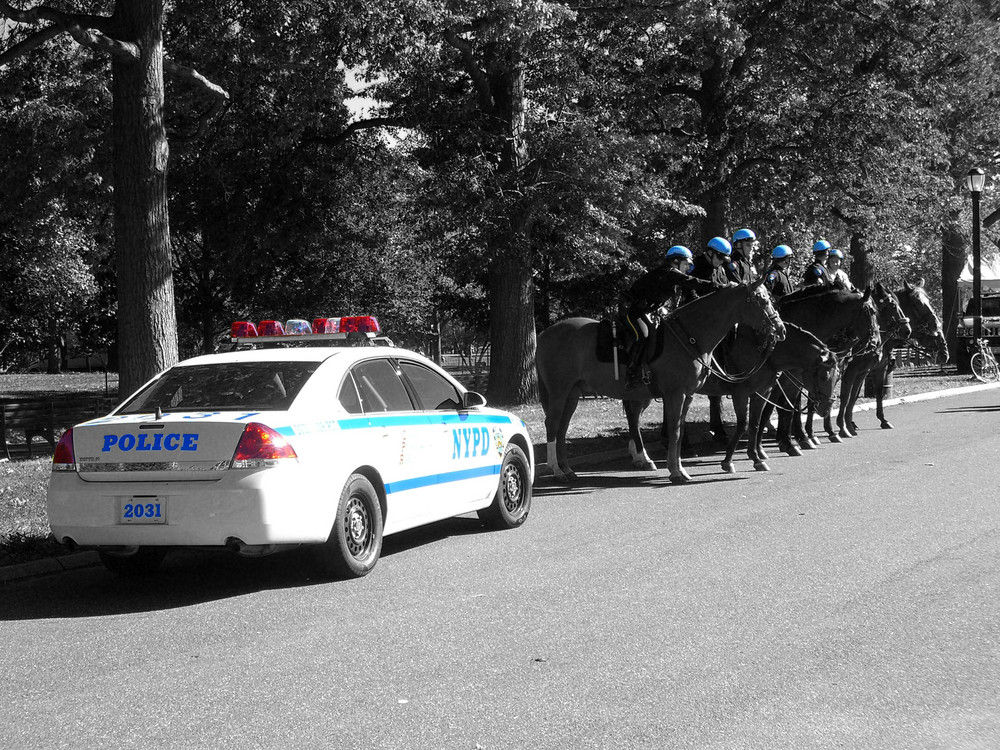
[[[871,290],[864,294],[849,292],[836,287],[807,287],[786,295],[778,303],[788,321],[806,329],[838,357],[846,357],[852,350],[867,346],[878,336],[875,307],[871,303]],[[801,413],[799,389],[795,382],[782,376],[779,390],[789,395],[778,413],[778,447],[792,456],[802,455],[792,443],[792,433],[803,448],[815,447],[812,425],[808,424],[808,434],[803,431],[798,419]],[[763,419],[768,419],[773,405],[764,409]],[[831,440],[836,436],[831,436]],[[837,438],[839,441],[839,438]]]

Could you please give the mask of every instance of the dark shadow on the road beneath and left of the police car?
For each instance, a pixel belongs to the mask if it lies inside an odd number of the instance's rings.
[[[467,514],[386,537],[381,559],[451,537],[490,532]],[[358,587],[378,585],[372,577],[327,580],[315,576],[312,552],[302,547],[260,558],[227,550],[178,549],[161,568],[141,578],[116,576],[89,567],[0,584],[0,622],[106,617],[157,612],[261,591],[306,586],[332,586],[334,594],[356,595]]]

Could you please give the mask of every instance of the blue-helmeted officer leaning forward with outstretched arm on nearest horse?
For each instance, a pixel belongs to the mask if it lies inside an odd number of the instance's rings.
[[[689,275],[690,265],[691,251],[683,245],[674,245],[667,250],[667,265],[664,268],[655,268],[642,274],[628,291],[621,295],[622,317],[635,336],[635,343],[629,350],[626,398],[630,397],[630,391],[635,392],[642,388],[641,363],[646,339],[652,328],[650,313],[660,309],[668,300],[674,299],[682,290],[706,294],[719,286],[725,286],[725,282],[717,284],[711,280]]]

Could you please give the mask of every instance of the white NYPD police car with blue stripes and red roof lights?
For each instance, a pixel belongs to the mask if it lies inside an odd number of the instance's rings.
[[[319,574],[355,577],[388,534],[472,511],[524,523],[524,423],[378,333],[370,316],[234,324],[233,351],[181,362],[62,436],[55,538],[124,575],[170,547],[314,545]]]

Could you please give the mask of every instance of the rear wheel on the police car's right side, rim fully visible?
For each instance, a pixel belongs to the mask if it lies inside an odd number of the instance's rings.
[[[330,538],[317,552],[327,576],[360,578],[375,567],[382,554],[382,508],[367,477],[352,474],[347,480]]]

